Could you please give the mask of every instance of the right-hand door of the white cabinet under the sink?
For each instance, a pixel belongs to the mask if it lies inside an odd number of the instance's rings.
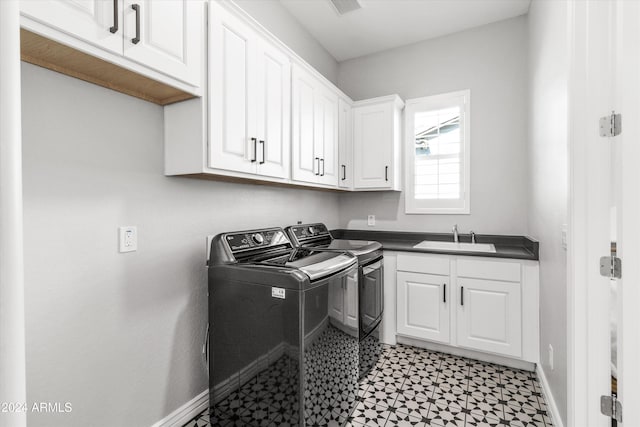
[[[458,278],[458,345],[522,355],[520,283]]]

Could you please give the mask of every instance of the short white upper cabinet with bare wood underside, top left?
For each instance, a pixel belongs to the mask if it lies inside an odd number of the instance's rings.
[[[200,96],[204,9],[203,0],[23,0],[22,59],[161,105]]]

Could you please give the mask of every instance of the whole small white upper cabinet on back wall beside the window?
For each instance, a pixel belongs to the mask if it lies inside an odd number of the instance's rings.
[[[403,107],[397,95],[354,103],[355,190],[400,190]]]

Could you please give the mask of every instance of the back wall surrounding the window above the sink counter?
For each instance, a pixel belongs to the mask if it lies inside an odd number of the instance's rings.
[[[402,193],[346,194],[348,228],[525,234],[527,33],[518,17],[341,62],[338,86],[356,100],[471,89],[471,215],[406,215]],[[367,227],[367,214],[376,226]]]

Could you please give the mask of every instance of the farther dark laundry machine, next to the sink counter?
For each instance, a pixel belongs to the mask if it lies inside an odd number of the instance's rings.
[[[347,251],[358,258],[360,377],[364,377],[382,354],[380,322],[384,311],[384,262],[382,245],[369,240],[334,239],[322,223],[285,228],[294,246],[336,252]]]

